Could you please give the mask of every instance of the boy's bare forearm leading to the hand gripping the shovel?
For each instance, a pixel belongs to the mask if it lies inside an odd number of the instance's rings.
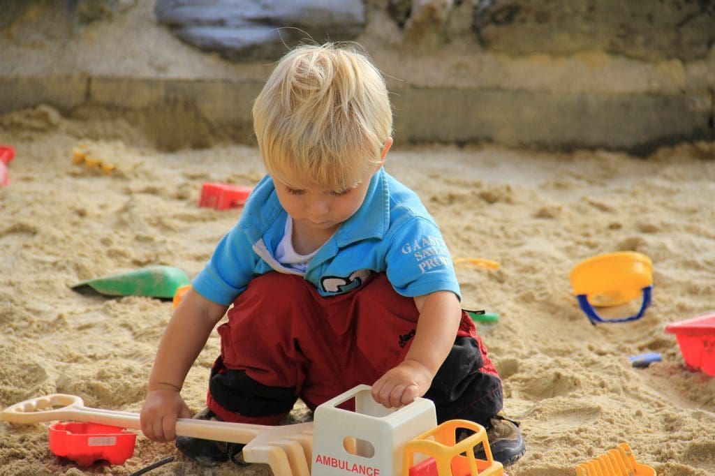
[[[226,309],[189,290],[164,329],[149,375],[149,391],[162,387],[181,390],[189,369]]]

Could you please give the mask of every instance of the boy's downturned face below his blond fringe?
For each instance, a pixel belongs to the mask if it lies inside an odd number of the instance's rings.
[[[374,173],[374,170],[368,171],[358,184],[344,190],[295,189],[277,180],[275,190],[285,211],[295,222],[300,222],[303,229],[332,233],[363,204]]]

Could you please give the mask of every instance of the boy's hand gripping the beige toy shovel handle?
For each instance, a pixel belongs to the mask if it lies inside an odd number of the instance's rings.
[[[177,418],[191,417],[192,412],[177,387],[164,384],[147,392],[139,422],[144,436],[149,440],[167,442],[177,437]]]

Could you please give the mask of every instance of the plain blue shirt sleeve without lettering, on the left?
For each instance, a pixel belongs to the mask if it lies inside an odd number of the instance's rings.
[[[230,306],[253,277],[256,254],[241,222],[221,239],[192,286],[206,299]]]

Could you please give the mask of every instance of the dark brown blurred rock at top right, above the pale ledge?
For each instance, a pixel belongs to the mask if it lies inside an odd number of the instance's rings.
[[[715,43],[712,0],[475,0],[483,46],[508,54],[603,49],[635,59],[701,59]]]

